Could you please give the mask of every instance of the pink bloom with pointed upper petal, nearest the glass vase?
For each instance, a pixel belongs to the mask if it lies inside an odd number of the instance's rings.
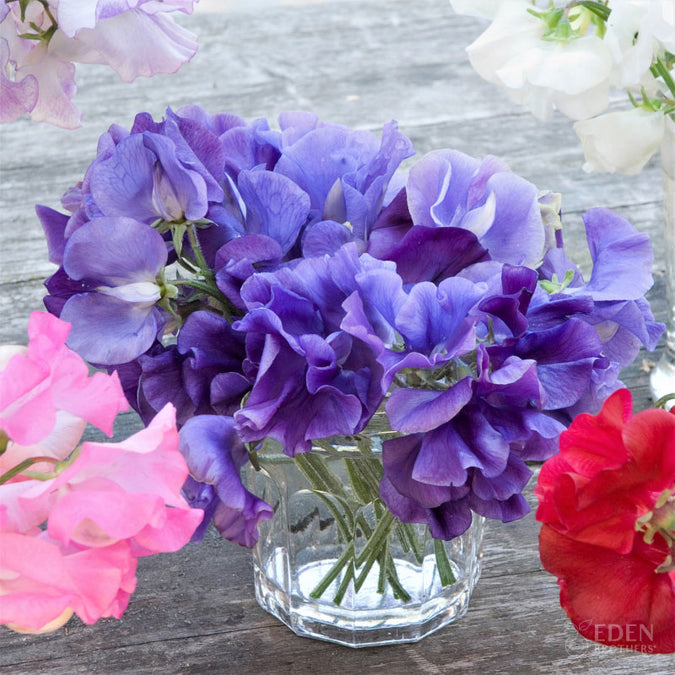
[[[175,414],[167,404],[126,441],[84,443],[77,461],[45,485],[63,492],[49,515],[50,537],[90,547],[129,540],[136,556],[182,548],[203,514],[180,495],[188,468]]]

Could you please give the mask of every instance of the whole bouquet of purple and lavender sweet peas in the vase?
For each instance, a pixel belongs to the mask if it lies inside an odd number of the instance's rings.
[[[363,439],[378,410],[392,521],[448,540],[472,512],[521,518],[526,462],[655,347],[647,234],[587,212],[584,278],[558,195],[453,150],[402,170],[413,153],[393,122],[378,138],[189,106],[112,126],[68,213],[38,207],[68,345],[116,370],[143,420],[176,407],[197,537],[212,521],[253,545],[272,508],[240,471],[263,444],[302,459]]]

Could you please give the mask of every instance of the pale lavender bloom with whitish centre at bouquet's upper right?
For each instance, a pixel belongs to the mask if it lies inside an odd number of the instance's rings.
[[[469,230],[493,260],[534,267],[546,252],[536,187],[495,157],[431,152],[410,170],[406,190],[415,225]]]

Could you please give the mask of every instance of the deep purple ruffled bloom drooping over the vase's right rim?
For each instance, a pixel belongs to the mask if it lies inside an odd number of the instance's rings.
[[[445,391],[396,389],[387,403],[392,428],[407,435],[383,444],[382,497],[439,538],[461,534],[469,509],[504,522],[525,515],[524,461],[553,454],[564,428],[536,410],[533,361],[512,357],[491,372],[481,345],[477,369]]]

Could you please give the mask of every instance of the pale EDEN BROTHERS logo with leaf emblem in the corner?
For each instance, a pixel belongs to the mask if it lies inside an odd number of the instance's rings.
[[[582,637],[571,621],[565,621],[565,649],[570,655],[610,652],[619,648],[619,646],[621,649],[641,654],[654,653],[654,630],[652,626],[616,623],[593,624],[588,621],[582,623],[579,627],[588,633],[589,639]]]

